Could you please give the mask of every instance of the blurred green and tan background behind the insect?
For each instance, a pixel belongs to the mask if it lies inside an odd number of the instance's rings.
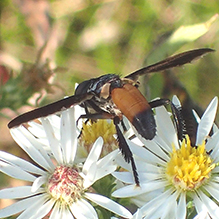
[[[72,95],[75,83],[106,73],[125,76],[172,54],[209,47],[216,52],[192,65],[141,80],[149,100],[166,88],[171,97],[177,88],[164,81],[173,75],[205,108],[219,94],[218,12],[214,0],[1,0],[1,150],[25,156],[7,123]]]

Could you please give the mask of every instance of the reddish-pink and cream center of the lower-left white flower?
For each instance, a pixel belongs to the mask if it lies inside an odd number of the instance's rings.
[[[83,179],[76,168],[58,166],[48,180],[47,190],[55,200],[70,205],[83,195]]]

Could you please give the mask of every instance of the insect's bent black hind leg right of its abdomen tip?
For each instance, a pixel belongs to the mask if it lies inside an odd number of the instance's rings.
[[[176,125],[177,133],[178,133],[178,138],[179,140],[182,140],[184,138],[184,135],[186,133],[186,128],[185,128],[185,121],[183,119],[182,115],[182,108],[177,107],[173,102],[169,99],[157,99],[149,102],[149,105],[151,108],[163,106],[163,105],[170,105],[171,110],[173,113],[173,119],[174,123]]]

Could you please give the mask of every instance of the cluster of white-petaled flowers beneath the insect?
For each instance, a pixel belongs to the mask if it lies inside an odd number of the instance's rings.
[[[176,97],[174,101],[178,103]],[[0,152],[0,171],[28,182],[0,190],[1,199],[18,199],[0,210],[0,218],[19,214],[18,218],[33,219],[217,219],[217,105],[215,97],[201,118],[194,112],[198,122],[194,145],[189,135],[178,139],[171,114],[164,107],[155,109],[157,131],[152,140],[138,133],[130,140],[131,128],[124,133],[134,155],[139,186],[131,165],[115,149],[116,132],[108,121],[81,124],[81,131],[76,125],[80,113],[72,107],[60,116],[11,129],[12,137],[33,162]]]

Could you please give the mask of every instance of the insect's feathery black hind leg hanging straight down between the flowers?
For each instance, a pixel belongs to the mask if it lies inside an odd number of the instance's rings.
[[[117,132],[118,142],[119,142],[119,149],[121,150],[125,161],[127,163],[131,162],[135,183],[137,186],[139,186],[140,182],[139,182],[138,172],[137,172],[137,168],[136,168],[135,161],[133,158],[133,154],[132,154],[132,152],[131,152],[131,150],[130,150],[119,126],[118,126],[118,124],[120,123],[119,117],[114,117],[113,122],[114,122],[114,125],[116,127],[116,132]]]

